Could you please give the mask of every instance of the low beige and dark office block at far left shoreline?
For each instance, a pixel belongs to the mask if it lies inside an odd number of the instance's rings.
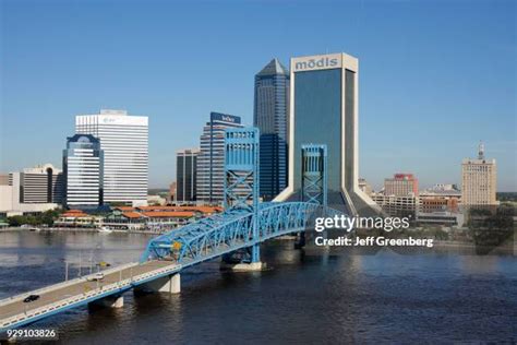
[[[10,174],[10,186],[19,185],[16,194],[20,203],[62,203],[64,201],[64,177],[51,164],[25,168]]]

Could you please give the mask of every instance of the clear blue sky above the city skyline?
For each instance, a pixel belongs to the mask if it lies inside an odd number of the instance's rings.
[[[149,117],[149,187],[211,111],[252,124],[272,58],[359,59],[359,171],[460,183],[479,141],[517,191],[516,1],[0,0],[0,171],[61,167],[74,116]]]

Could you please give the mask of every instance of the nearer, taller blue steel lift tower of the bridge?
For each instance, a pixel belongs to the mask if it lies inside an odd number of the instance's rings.
[[[225,210],[253,214],[253,239],[258,238],[258,129],[254,127],[232,128],[225,132]],[[249,255],[251,265],[262,269],[258,243],[250,248]],[[228,260],[224,258],[224,261]],[[233,270],[239,267],[252,271],[243,265],[236,265]]]

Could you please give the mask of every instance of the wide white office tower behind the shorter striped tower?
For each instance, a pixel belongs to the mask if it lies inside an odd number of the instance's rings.
[[[124,110],[75,117],[75,133],[92,134],[104,151],[104,203],[147,204],[148,118]]]

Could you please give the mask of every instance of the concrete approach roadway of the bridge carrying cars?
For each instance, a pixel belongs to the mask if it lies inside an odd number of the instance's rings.
[[[147,261],[129,263],[103,271],[99,282],[88,282],[86,276],[50,285],[0,300],[0,332],[71,309],[88,302],[120,295],[137,285],[181,270],[181,264],[171,261]],[[95,274],[92,274],[95,275]],[[29,295],[39,295],[32,302],[23,300]]]

